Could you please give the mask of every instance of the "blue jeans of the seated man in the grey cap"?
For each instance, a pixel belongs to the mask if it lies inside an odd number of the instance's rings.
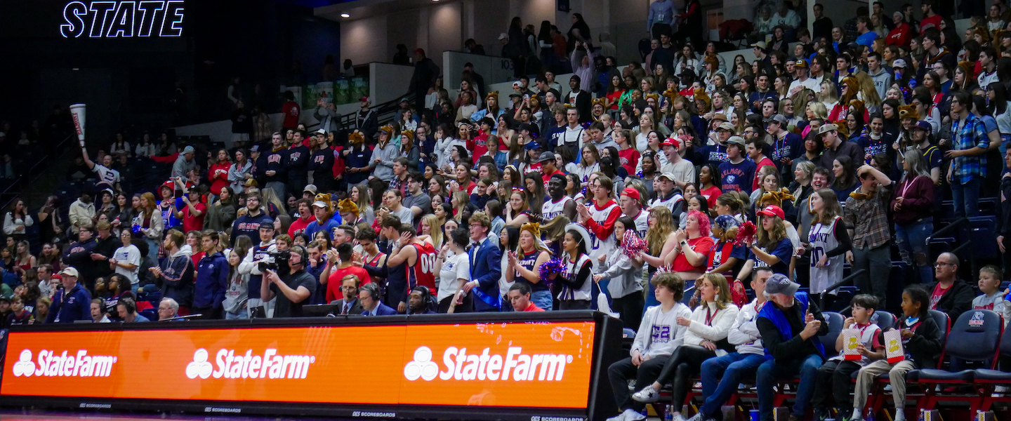
[[[815,383],[818,381],[818,369],[824,362],[824,358],[817,353],[812,353],[801,359],[789,359],[776,361],[767,359],[758,366],[755,374],[755,386],[758,388],[758,410],[761,413],[761,421],[772,421],[772,400],[775,393],[772,387],[776,384],[776,379],[793,379],[800,375],[801,383],[797,386],[797,401],[794,402],[794,410],[791,412],[795,417],[804,418],[804,413],[811,405],[811,398],[815,393]]]

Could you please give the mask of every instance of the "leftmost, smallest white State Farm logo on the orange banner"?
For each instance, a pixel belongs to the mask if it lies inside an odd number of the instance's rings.
[[[112,355],[88,355],[85,349],[79,349],[77,354],[69,355],[68,351],[61,354],[42,349],[38,358],[31,360],[31,350],[23,349],[18,360],[11,365],[14,377],[74,377],[74,378],[107,378],[112,373],[112,365],[118,359]]]

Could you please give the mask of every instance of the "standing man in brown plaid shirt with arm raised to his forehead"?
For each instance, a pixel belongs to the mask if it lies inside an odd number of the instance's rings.
[[[853,244],[853,249],[846,252],[846,260],[853,272],[866,271],[854,280],[856,287],[884,303],[892,273],[888,208],[894,185],[888,176],[868,165],[860,167],[856,174],[860,187],[846,198],[843,217],[846,226],[850,227],[849,238]]]

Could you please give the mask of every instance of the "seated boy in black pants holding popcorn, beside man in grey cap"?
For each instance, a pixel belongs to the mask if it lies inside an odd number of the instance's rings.
[[[839,354],[829,358],[818,369],[818,382],[815,384],[814,399],[811,402],[815,409],[815,420],[832,418],[826,405],[829,395],[835,398],[836,412],[845,415],[853,407],[849,397],[850,383],[853,372],[860,370],[871,361],[885,357],[885,344],[882,329],[870,322],[878,309],[878,297],[860,294],[853,297],[849,307],[852,316],[842,322],[843,329],[856,329],[859,332],[856,350],[860,359],[845,359],[842,351],[845,341],[842,334],[835,340],[835,350]]]

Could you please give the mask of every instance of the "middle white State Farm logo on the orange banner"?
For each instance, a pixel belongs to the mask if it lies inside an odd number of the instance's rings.
[[[309,366],[315,362],[315,355],[279,355],[277,349],[267,348],[263,354],[253,354],[247,349],[245,354],[236,354],[235,349],[217,350],[214,363],[208,360],[210,354],[204,348],[193,352],[193,360],[186,364],[186,377],[190,379],[305,379]]]

